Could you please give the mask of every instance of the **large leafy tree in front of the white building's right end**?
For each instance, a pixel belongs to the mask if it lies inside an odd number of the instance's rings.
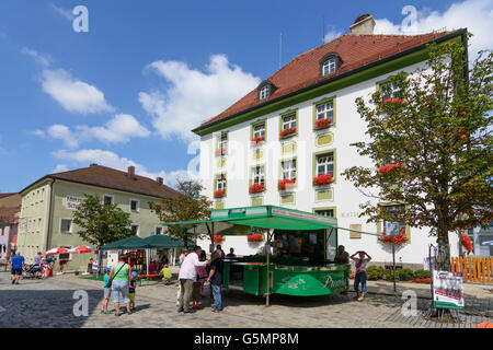
[[[368,141],[353,143],[372,166],[343,175],[366,196],[369,222],[428,226],[437,266],[450,270],[448,233],[492,222],[492,60],[482,51],[468,69],[463,43],[429,45],[427,68],[400,72],[369,101],[356,100]],[[402,203],[390,213],[379,202]]]

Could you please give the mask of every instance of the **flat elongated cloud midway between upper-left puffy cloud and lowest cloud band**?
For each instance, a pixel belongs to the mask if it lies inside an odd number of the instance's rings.
[[[142,126],[134,116],[128,114],[115,115],[106,125],[102,127],[89,127],[78,125],[73,130],[65,125],[53,125],[45,132],[34,130],[31,133],[44,138],[47,133],[54,139],[62,140],[69,148],[77,148],[81,142],[98,140],[103,143],[126,143],[131,138],[145,138],[150,131]]]

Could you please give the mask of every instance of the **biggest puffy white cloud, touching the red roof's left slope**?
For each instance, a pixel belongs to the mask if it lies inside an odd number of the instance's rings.
[[[168,82],[164,92],[140,92],[142,108],[153,117],[162,138],[175,135],[184,140],[208,118],[221,113],[254,89],[261,80],[230,65],[225,55],[214,55],[204,71],[180,61],[154,61],[148,70]]]

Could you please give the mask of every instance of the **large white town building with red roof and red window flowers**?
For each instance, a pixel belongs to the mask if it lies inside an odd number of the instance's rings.
[[[193,130],[200,136],[205,195],[214,198],[217,209],[284,206],[335,217],[343,228],[382,231],[381,222],[366,223],[367,218],[358,217],[359,205],[370,199],[341,176],[355,164],[371,165],[349,145],[367,140],[366,124],[355,100],[368,98],[399,71],[411,73],[424,67],[426,44],[461,40],[466,31],[374,35],[374,26],[372,16],[358,18],[351,26],[352,33],[299,55],[257,89]],[[330,120],[331,126],[317,128],[319,119]],[[263,141],[252,142],[255,137]],[[321,174],[333,176],[330,186],[313,185],[313,178]],[[286,190],[279,190],[283,178],[296,179],[293,188],[288,184]],[[263,186],[262,191],[250,194],[253,184]],[[223,196],[215,198],[221,191]],[[410,243],[397,249],[397,261],[423,264],[427,244],[436,243],[428,232],[406,226]],[[351,254],[364,249],[374,261],[391,261],[391,247],[376,236],[340,231],[339,243]],[[209,242],[199,244],[208,246]],[[458,244],[457,234],[450,233],[452,256],[458,254]],[[259,248],[246,243],[244,236],[227,237],[222,248],[228,253],[230,246],[239,255],[255,254]]]

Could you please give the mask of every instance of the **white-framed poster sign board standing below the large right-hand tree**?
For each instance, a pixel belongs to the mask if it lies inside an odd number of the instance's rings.
[[[433,305],[436,308],[463,310],[461,272],[433,271]]]

